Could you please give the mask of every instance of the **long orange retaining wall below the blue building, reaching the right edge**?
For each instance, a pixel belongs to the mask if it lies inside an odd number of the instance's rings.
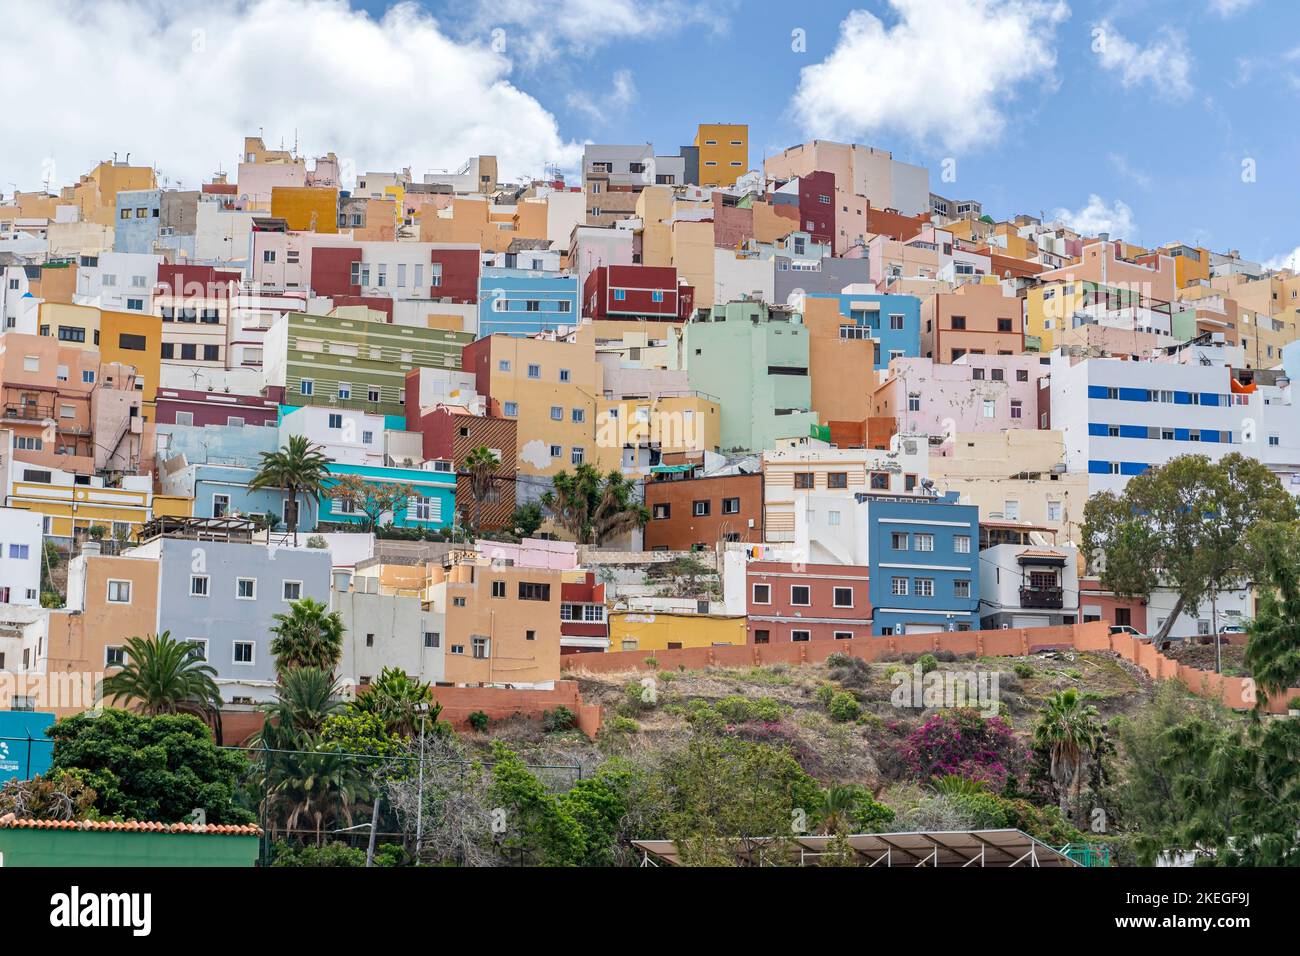
[[[1180,665],[1165,657],[1152,644],[1135,641],[1128,635],[1110,633],[1104,620],[1060,627],[1020,627],[1000,631],[942,631],[885,637],[854,637],[844,641],[806,641],[800,644],[744,644],[715,648],[681,648],[676,650],[618,650],[608,654],[568,654],[560,669],[569,672],[610,674],[618,671],[653,671],[656,667],[762,667],[774,663],[822,663],[831,654],[849,654],[879,661],[892,654],[924,654],[950,650],[978,657],[1023,657],[1039,650],[1071,648],[1074,650],[1112,652],[1138,665],[1154,680],[1179,679],[1202,697],[1213,697],[1235,710],[1254,706],[1254,682],[1228,678],[1200,667]],[[655,663],[647,665],[653,659]],[[443,688],[439,688],[443,689]],[[1269,698],[1266,713],[1283,714],[1287,702],[1300,697],[1300,688],[1291,688]],[[598,710],[599,708],[597,708]]]

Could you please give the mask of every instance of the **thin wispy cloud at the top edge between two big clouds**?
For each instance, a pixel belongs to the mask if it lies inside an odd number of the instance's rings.
[[[525,66],[558,56],[586,56],[616,40],[647,40],[686,27],[715,31],[727,23],[731,0],[480,0],[465,26],[494,35]]]

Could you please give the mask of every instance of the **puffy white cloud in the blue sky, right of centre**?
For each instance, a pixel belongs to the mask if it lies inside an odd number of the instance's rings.
[[[1017,87],[1054,82],[1063,0],[889,0],[840,25],[835,51],[806,66],[792,108],[814,137],[881,131],[962,150],[998,138]]]

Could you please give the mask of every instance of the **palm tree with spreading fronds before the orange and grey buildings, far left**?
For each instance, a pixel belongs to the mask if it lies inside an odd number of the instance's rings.
[[[221,740],[221,691],[217,671],[204,663],[191,641],[172,639],[170,631],[126,641],[126,663],[104,678],[105,700],[134,701],[142,713],[196,714],[212,722]]]

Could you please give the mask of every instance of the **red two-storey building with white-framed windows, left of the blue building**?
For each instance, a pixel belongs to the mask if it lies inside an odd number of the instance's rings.
[[[871,636],[868,572],[855,564],[751,561],[745,568],[750,644]]]

